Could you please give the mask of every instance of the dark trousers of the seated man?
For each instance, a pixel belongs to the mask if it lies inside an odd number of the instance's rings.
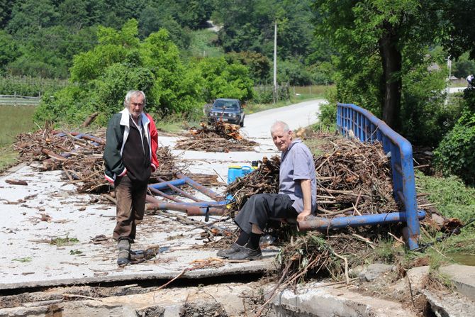
[[[234,221],[245,233],[251,233],[252,224],[264,230],[269,219],[296,218],[293,202],[285,194],[256,194],[246,201]]]

